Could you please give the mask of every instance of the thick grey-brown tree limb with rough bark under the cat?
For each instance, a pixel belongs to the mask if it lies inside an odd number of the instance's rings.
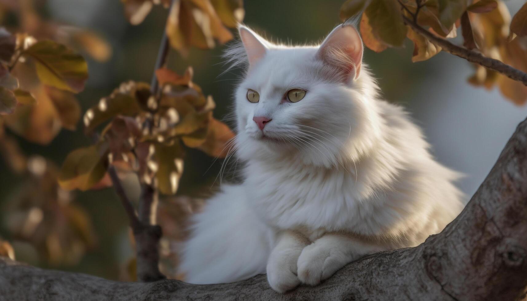
[[[265,275],[230,284],[121,283],[0,259],[0,300],[521,300],[527,293],[527,121],[463,212],[415,248],[367,256],[281,295]]]

